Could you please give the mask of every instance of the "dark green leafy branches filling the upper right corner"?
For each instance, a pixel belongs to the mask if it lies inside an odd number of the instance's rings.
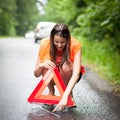
[[[76,32],[80,32],[90,40],[108,39],[113,49],[120,51],[119,0],[86,1],[88,6],[77,18],[79,27],[76,29]]]

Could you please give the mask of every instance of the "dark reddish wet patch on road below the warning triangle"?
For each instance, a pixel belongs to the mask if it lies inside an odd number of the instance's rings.
[[[74,108],[65,109],[64,111],[51,112],[53,108],[40,105],[39,108],[32,108],[27,116],[27,120],[78,120],[80,115]]]

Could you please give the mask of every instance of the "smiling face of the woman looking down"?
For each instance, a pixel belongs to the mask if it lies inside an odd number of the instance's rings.
[[[58,35],[55,35],[54,36],[54,44],[57,48],[57,50],[63,50],[64,47],[66,46],[66,39],[65,38],[62,38]]]

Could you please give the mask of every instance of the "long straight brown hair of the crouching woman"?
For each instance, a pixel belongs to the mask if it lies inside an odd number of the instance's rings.
[[[50,33],[50,58],[51,60],[56,63],[56,46],[54,44],[54,36],[60,36],[62,38],[66,39],[66,46],[63,50],[63,56],[62,60],[60,62],[60,66],[66,62],[67,64],[70,64],[70,41],[71,41],[71,35],[69,28],[65,24],[56,24]]]

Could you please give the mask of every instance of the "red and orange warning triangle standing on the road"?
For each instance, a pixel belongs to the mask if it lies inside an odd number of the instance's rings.
[[[60,93],[60,96],[55,95],[43,95],[43,91],[47,87],[47,85],[50,83],[50,81],[53,80],[55,82],[55,85]],[[62,98],[62,95],[66,89],[66,85],[60,76],[60,73],[57,68],[54,70],[48,70],[46,74],[43,76],[43,78],[40,80],[36,88],[33,90],[32,94],[28,98],[28,102],[30,103],[46,103],[46,104],[58,104],[59,101]],[[72,101],[71,96],[68,98],[68,106],[74,106],[75,103]]]

